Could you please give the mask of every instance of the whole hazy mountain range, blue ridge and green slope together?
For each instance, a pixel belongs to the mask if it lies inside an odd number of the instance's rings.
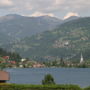
[[[7,15],[0,18],[0,46],[32,59],[79,59],[83,52],[90,58],[90,17],[72,16],[24,17]],[[1,35],[0,35],[1,36]],[[5,42],[6,40],[6,42]]]

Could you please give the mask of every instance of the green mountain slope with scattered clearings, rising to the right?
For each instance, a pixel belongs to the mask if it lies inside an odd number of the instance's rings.
[[[90,17],[71,20],[52,31],[24,38],[7,47],[35,60],[53,60],[57,57],[79,60],[81,52],[84,59],[90,59]]]

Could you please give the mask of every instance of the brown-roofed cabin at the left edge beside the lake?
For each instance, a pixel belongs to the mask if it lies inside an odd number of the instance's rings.
[[[9,73],[6,71],[0,71],[0,83],[6,83],[10,80]]]

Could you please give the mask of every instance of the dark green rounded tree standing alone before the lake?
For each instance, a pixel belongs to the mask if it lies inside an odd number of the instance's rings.
[[[54,78],[51,74],[45,75],[44,79],[42,80],[43,85],[52,85],[55,84]]]

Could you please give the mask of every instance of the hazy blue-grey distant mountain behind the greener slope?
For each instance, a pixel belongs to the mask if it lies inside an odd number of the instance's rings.
[[[61,22],[62,20],[49,16],[25,17],[9,14],[0,17],[0,33],[5,33],[15,39],[21,39],[46,30],[52,30]]]

